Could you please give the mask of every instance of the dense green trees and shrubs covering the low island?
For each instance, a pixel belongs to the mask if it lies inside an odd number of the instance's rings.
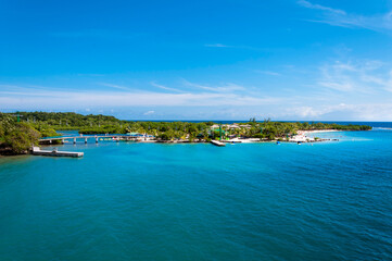
[[[73,112],[21,112],[17,122],[15,114],[0,113],[0,150],[22,153],[40,137],[56,136],[55,129],[78,129],[80,134],[126,134],[153,135],[160,140],[210,140],[225,137],[261,138],[264,140],[286,139],[298,130],[338,129],[367,130],[366,125],[339,125],[334,123],[271,122],[269,119],[257,122],[219,126],[213,122],[130,122],[114,116],[81,115]]]

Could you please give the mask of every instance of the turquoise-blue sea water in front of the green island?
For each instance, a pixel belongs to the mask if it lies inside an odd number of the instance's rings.
[[[391,260],[392,132],[0,159],[0,260]]]

